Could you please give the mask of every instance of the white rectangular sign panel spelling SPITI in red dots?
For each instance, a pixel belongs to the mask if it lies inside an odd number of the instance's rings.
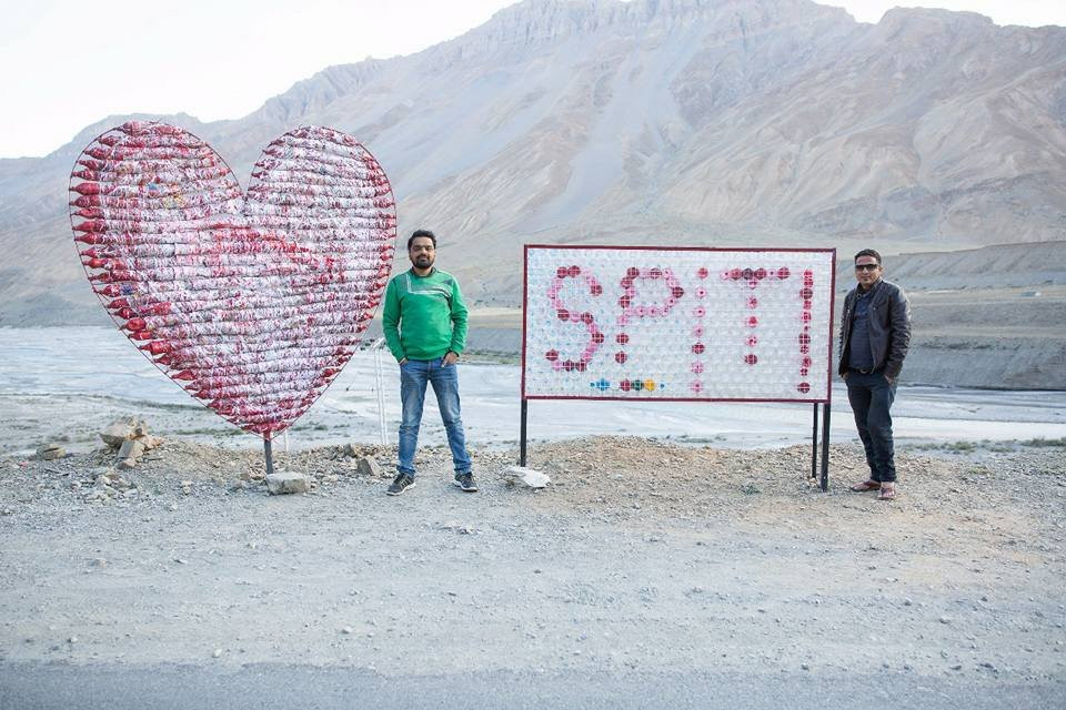
[[[829,400],[836,250],[525,247],[527,399]]]

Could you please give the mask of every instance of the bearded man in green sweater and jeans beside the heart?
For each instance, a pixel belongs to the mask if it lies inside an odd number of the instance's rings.
[[[466,344],[466,305],[459,282],[433,266],[436,236],[418,230],[408,240],[411,268],[394,276],[385,290],[382,326],[389,349],[400,363],[400,464],[389,486],[399,496],[414,486],[414,452],[419,446],[425,385],[432,383],[447,446],[455,465],[454,484],[466,493],[477,490],[470,473],[470,453],[459,412],[459,366],[455,362]]]

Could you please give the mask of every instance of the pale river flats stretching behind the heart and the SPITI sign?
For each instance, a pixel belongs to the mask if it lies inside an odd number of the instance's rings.
[[[360,352],[333,386],[296,422],[282,445],[380,443],[374,354]],[[395,444],[399,371],[382,357],[385,429]],[[473,446],[513,446],[519,438],[520,368],[461,364],[463,422]],[[203,443],[259,447],[190,397],[109,327],[0,328],[0,453],[32,452],[63,438],[70,450],[99,445],[113,418],[137,416],[153,433]],[[723,447],[776,447],[809,442],[812,405],[557,402],[529,405],[531,440],[632,435]],[[1066,392],[1012,392],[901,386],[893,407],[901,443],[1004,442],[1066,436]],[[853,440],[844,387],[834,384],[834,442]],[[422,442],[444,444],[432,395]]]

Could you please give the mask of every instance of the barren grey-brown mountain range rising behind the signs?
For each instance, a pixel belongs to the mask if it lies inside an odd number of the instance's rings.
[[[0,324],[95,310],[67,176],[88,126],[0,161]],[[235,121],[161,116],[242,182],[300,124],[354,134],[474,301],[523,242],[836,245],[1066,239],[1066,29],[809,0],[525,0],[418,54],[329,68]],[[87,311],[89,308],[90,311]]]

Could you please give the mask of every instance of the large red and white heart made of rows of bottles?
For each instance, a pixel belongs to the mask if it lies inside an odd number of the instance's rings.
[[[265,438],[341,372],[389,278],[389,180],[331,129],[271,142],[245,195],[197,136],[132,121],[82,152],[70,190],[82,264],[119,327],[190,394]]]

